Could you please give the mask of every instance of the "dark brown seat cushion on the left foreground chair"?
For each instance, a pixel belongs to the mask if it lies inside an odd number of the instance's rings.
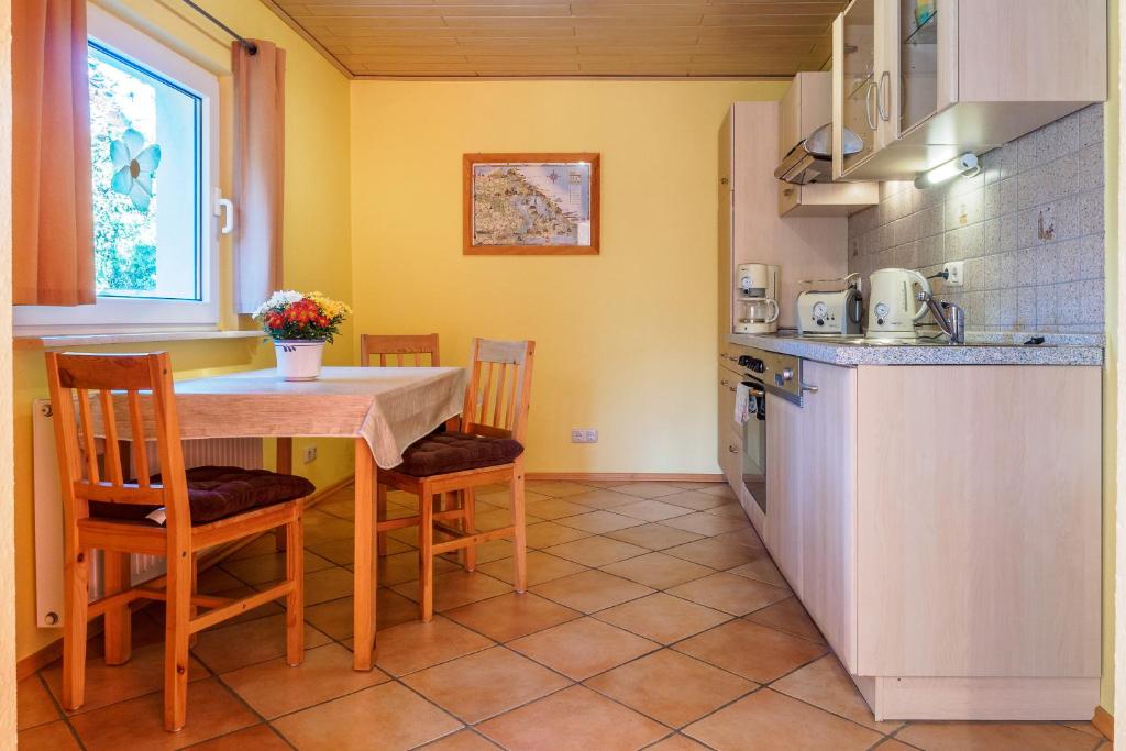
[[[312,493],[313,483],[297,475],[284,475],[268,470],[241,467],[195,467],[187,471],[188,504],[191,524],[218,521],[263,506],[284,503]],[[160,475],[151,482],[160,483]],[[142,521],[155,506],[125,503],[90,503],[90,516],[127,521]]]

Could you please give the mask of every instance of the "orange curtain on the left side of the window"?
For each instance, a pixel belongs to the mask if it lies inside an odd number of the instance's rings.
[[[12,299],[95,302],[86,0],[11,3]]]

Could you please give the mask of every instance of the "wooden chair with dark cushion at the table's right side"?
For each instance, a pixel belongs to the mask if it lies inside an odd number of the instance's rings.
[[[475,547],[502,537],[513,538],[516,590],[527,588],[524,513],[524,454],[531,394],[534,341],[474,339],[470,385],[458,432],[434,433],[413,444],[394,470],[381,470],[378,483],[419,497],[419,516],[383,521],[383,530],[419,525],[419,604],[422,620],[434,618],[434,557],[465,551],[465,567],[476,564]],[[458,453],[470,468],[457,468]],[[492,455],[490,459],[488,456]],[[499,457],[499,458],[498,458]],[[436,471],[446,464],[449,468]],[[474,493],[482,485],[509,483],[512,524],[477,533]],[[461,508],[435,510],[437,493],[455,493]],[[445,524],[459,521],[461,529]],[[448,539],[435,542],[435,533]]]

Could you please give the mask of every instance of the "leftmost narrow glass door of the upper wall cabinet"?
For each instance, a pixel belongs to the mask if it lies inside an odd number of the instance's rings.
[[[841,16],[843,125],[846,131],[851,131],[863,143],[858,152],[844,152],[844,170],[864,161],[876,146],[879,126],[876,98],[879,81],[876,77],[875,16],[876,0],[855,0]],[[850,140],[848,133],[844,134],[844,140]]]

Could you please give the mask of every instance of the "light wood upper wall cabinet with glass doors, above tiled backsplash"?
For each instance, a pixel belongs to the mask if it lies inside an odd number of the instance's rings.
[[[911,179],[1105,100],[1106,39],[1106,0],[854,0],[833,23],[833,177]]]

